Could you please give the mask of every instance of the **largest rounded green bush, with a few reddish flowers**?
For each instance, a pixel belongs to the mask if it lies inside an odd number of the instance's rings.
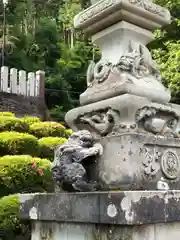
[[[53,190],[51,162],[28,155],[0,158],[0,196]]]

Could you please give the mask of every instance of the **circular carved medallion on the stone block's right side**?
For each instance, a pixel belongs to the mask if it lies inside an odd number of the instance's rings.
[[[167,178],[175,179],[180,172],[180,160],[171,150],[165,151],[161,159],[161,167]]]

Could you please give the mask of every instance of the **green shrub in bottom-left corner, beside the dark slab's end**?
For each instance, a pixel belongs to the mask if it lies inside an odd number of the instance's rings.
[[[18,236],[23,236],[26,240],[30,239],[28,222],[19,219],[18,195],[0,198],[0,229],[4,230],[5,236],[2,238],[4,240],[17,240]]]

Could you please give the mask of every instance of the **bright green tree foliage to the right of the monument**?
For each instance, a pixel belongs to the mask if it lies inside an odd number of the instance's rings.
[[[156,0],[156,3],[170,10],[172,22],[155,32],[155,40],[150,48],[160,66],[163,83],[172,92],[172,101],[180,103],[180,2]]]

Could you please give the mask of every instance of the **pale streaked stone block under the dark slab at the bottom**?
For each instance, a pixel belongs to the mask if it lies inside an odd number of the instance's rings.
[[[34,222],[32,240],[179,240],[180,223],[138,227]]]

